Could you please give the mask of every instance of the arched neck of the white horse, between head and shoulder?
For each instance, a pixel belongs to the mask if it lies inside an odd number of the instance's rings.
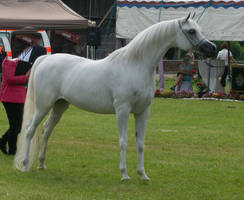
[[[138,35],[127,47],[129,60],[156,69],[167,50],[174,46],[176,21],[158,23]]]

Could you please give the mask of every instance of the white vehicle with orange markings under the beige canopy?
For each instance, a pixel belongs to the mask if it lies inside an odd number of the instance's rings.
[[[20,31],[10,29],[0,29],[0,48],[3,48],[9,58],[16,58],[23,50],[24,42],[37,42],[46,48],[47,54],[51,54],[51,45],[47,32]]]

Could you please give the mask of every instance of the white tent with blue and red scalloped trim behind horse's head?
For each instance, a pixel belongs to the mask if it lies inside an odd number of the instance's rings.
[[[117,38],[132,39],[159,21],[195,12],[209,40],[244,40],[244,1],[241,0],[117,0]]]

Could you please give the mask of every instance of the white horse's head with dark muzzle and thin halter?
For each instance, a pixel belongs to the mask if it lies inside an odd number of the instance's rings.
[[[194,49],[207,57],[212,57],[216,53],[216,45],[207,40],[200,31],[198,24],[190,19],[190,14],[178,20],[179,29],[176,43],[184,50]]]

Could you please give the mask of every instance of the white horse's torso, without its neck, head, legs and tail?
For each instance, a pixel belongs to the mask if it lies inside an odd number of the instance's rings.
[[[107,60],[91,61],[69,54],[46,56],[35,72],[38,74],[34,78],[35,91],[42,97],[37,101],[47,99],[53,103],[64,99],[79,108],[103,114],[115,113],[116,102],[127,102],[132,113],[142,112],[153,98],[154,76],[148,79],[143,70],[116,62],[108,65]],[[53,79],[56,76],[59,81]],[[43,77],[45,81],[40,80]]]

